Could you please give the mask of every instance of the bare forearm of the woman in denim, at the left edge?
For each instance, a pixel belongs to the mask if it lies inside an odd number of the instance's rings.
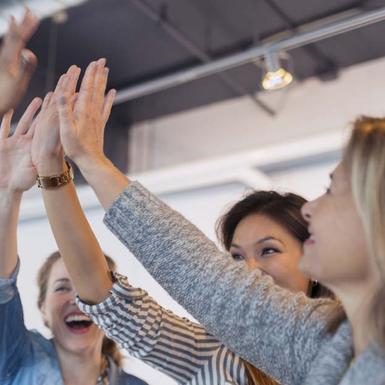
[[[0,278],[9,278],[17,265],[17,223],[22,193],[0,190]]]

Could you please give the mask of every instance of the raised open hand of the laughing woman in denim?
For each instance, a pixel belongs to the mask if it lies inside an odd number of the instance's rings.
[[[41,105],[35,98],[24,112],[16,130],[10,135],[13,111],[3,117],[0,128],[0,189],[23,192],[36,181],[36,169],[31,159],[33,119]]]

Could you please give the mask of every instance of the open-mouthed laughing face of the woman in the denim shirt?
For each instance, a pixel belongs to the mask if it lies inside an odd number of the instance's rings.
[[[61,258],[52,265],[41,312],[57,348],[80,354],[101,352],[104,334],[76,306],[75,290]]]

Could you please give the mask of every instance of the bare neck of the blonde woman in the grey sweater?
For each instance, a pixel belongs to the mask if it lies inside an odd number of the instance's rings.
[[[341,300],[352,326],[354,355],[360,355],[372,341],[368,331],[370,304],[374,293],[373,284],[349,285],[337,288],[334,293]]]

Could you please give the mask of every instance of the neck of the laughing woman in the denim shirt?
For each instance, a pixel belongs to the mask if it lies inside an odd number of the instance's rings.
[[[96,385],[104,364],[100,350],[73,353],[55,347],[65,385]]]

